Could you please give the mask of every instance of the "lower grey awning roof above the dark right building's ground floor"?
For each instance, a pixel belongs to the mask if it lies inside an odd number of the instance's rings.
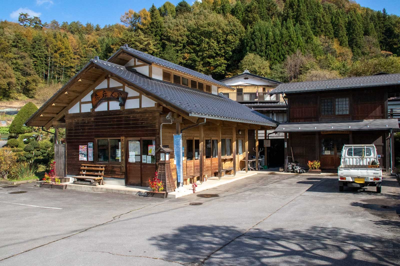
[[[398,119],[371,119],[304,123],[281,123],[274,132],[358,131],[398,129]]]

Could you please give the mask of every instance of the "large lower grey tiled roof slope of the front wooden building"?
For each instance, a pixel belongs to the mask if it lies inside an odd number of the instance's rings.
[[[279,123],[257,111],[226,97],[206,93],[173,83],[152,79],[134,69],[103,60],[91,60],[95,65],[109,71],[120,79],[141,88],[146,94],[176,107],[189,116],[254,123],[276,127]]]

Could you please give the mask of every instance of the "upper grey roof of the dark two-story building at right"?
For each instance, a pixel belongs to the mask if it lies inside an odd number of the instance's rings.
[[[400,85],[400,73],[373,75],[366,77],[348,77],[343,79],[282,83],[278,85],[278,87],[270,91],[270,94],[331,91],[358,87],[382,87],[389,85]]]

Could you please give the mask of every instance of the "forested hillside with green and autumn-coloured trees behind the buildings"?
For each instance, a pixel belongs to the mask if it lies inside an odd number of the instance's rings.
[[[0,100],[48,99],[123,44],[223,79],[282,82],[400,72],[400,18],[348,0],[202,0],[130,10],[114,25],[0,21]]]

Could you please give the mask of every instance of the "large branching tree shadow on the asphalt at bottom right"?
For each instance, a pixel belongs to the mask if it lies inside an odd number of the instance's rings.
[[[244,232],[235,226],[194,225],[150,238],[173,261],[192,265],[398,265],[400,244],[344,228],[312,226]]]

